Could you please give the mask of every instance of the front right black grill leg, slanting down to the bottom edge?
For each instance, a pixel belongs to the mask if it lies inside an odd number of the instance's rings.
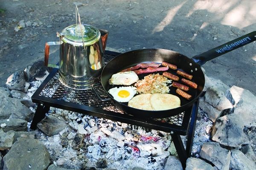
[[[175,131],[171,132],[172,141],[174,143],[175,149],[177,150],[177,154],[179,156],[181,165],[183,167],[183,170],[186,168],[186,160],[188,159],[188,156],[186,154],[185,147],[183,145],[183,142],[180,138],[180,135],[178,135]]]

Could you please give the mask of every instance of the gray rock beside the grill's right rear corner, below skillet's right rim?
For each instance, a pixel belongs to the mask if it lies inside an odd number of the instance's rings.
[[[199,99],[199,108],[201,108],[202,111],[207,113],[208,118],[215,122],[216,119],[218,119],[221,116],[222,111],[218,110],[217,108],[210,105],[208,102],[204,101],[204,98]]]

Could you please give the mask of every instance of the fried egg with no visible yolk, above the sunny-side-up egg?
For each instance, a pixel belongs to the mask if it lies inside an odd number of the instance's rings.
[[[119,72],[113,74],[111,79],[109,79],[110,85],[131,85],[137,82],[139,77],[134,71]]]

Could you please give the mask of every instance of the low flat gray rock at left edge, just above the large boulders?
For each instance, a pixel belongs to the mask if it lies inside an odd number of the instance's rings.
[[[28,122],[23,119],[9,119],[9,122],[6,119],[0,119],[0,124],[5,123],[6,127],[3,128],[4,132],[8,132],[10,130],[14,131],[27,131]]]

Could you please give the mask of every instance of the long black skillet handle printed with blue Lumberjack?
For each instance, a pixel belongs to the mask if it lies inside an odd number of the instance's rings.
[[[216,48],[213,48],[209,51],[206,51],[202,54],[198,54],[191,59],[193,59],[196,63],[199,65],[205,64],[207,61],[214,59],[218,56],[221,56],[223,54],[226,54],[230,51],[235,50],[236,48],[240,48],[241,46],[244,46],[246,44],[249,44],[256,40],[256,31],[253,31],[249,34],[246,34],[242,37],[239,37],[235,40],[232,40],[230,42],[227,42],[223,45],[220,45]]]

